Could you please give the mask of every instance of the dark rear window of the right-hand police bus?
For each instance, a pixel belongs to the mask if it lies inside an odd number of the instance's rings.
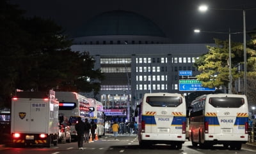
[[[244,104],[244,99],[240,97],[211,97],[209,104],[214,108],[240,108]]]

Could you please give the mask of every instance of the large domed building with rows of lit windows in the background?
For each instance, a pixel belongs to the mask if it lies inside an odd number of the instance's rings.
[[[106,115],[120,121],[129,120],[145,93],[187,95],[179,91],[179,71],[192,71],[195,77],[193,63],[207,52],[205,44],[172,44],[156,24],[129,11],[102,13],[77,34],[71,48],[94,57],[95,69],[106,76],[97,99]]]

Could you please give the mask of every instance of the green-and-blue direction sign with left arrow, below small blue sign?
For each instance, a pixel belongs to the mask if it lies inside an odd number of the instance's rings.
[[[202,87],[198,80],[179,80],[179,91],[215,91],[215,88]]]

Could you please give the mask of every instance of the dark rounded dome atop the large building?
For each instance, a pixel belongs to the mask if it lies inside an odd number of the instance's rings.
[[[148,18],[131,11],[108,11],[88,20],[79,36],[157,36],[165,34]]]

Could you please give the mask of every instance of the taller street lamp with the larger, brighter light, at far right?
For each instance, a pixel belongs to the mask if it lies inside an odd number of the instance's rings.
[[[207,5],[200,5],[198,7],[199,11],[207,11],[209,8]],[[232,10],[232,11],[243,11],[243,34],[244,34],[244,95],[247,95],[247,79],[246,79],[246,21],[245,21],[245,11],[246,10],[256,10],[256,8],[248,9],[228,9],[228,8],[211,8],[211,10]]]

